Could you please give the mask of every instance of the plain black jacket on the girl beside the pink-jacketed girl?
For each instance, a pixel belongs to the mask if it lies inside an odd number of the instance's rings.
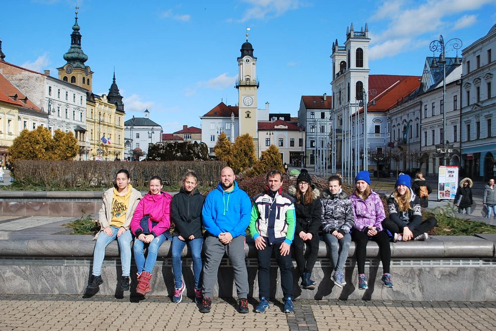
[[[172,197],[171,216],[175,224],[173,236],[181,235],[185,239],[190,235],[195,238],[203,237],[201,232],[203,201],[205,197],[198,190],[195,189],[189,194],[183,187]]]

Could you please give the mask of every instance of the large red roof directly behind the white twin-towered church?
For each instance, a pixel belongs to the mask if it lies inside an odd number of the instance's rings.
[[[421,76],[370,75],[369,89],[375,89],[377,94],[369,96],[367,110],[387,111],[419,88],[421,79]],[[372,100],[375,101],[375,105],[370,104]]]

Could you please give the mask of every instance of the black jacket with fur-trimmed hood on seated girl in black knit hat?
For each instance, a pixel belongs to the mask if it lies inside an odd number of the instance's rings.
[[[288,191],[290,196],[296,197],[296,187],[294,185],[290,186]],[[311,233],[313,236],[317,235],[321,215],[319,195],[320,192],[317,189],[314,189],[312,190],[313,200],[311,204],[304,204],[303,199],[302,201],[299,201],[300,203],[295,201],[295,236],[298,236],[302,231]]]

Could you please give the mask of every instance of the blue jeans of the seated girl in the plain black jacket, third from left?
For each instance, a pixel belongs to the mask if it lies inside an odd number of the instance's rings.
[[[186,243],[193,259],[194,287],[200,288],[199,284],[202,268],[201,247],[203,246],[203,238],[195,238],[193,240],[186,239],[186,241],[182,241],[178,237],[172,238],[172,272],[174,273],[175,286],[176,288],[180,288],[183,285],[183,262],[181,255],[183,254]]]

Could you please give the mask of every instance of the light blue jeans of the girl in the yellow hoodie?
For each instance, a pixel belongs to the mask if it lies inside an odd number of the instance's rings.
[[[93,251],[93,275],[99,276],[102,274],[102,264],[105,258],[105,248],[109,246],[111,242],[116,240],[118,227],[111,226],[112,236],[109,236],[103,231],[100,231],[98,239],[96,240],[95,250]],[[121,264],[123,267],[123,276],[129,276],[131,270],[131,231],[125,231],[119,238],[117,242],[119,244],[119,251],[121,253]]]

